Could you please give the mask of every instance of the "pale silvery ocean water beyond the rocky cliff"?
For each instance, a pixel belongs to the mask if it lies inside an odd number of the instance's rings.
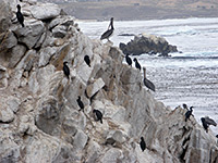
[[[100,38],[108,25],[109,22],[78,22],[92,39]],[[162,36],[177,46],[182,53],[171,53],[171,58],[137,57],[147,67],[147,78],[156,85],[153,95],[171,109],[182,103],[193,105],[199,124],[203,116],[218,123],[218,18],[114,21],[114,28],[110,39],[114,46],[134,38],[121,34],[142,33]],[[210,129],[218,134],[218,127]]]

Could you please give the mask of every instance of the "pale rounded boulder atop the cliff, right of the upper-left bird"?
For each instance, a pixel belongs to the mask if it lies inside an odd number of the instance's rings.
[[[61,9],[57,4],[47,3],[47,4],[36,4],[29,8],[33,16],[37,20],[49,20],[57,17]]]

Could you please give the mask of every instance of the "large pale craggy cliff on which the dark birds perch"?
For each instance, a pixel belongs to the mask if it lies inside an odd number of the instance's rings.
[[[1,3],[14,16],[15,8]],[[21,4],[26,13],[47,7]],[[0,162],[218,162],[215,137],[194,117],[185,122],[181,108],[156,101],[140,71],[122,63],[120,49],[90,40],[73,17],[61,13],[25,14],[25,27],[12,22],[0,34]],[[102,124],[95,121],[94,109],[101,111]]]

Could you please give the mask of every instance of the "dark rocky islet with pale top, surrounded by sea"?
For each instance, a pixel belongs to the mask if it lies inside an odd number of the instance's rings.
[[[130,42],[120,43],[120,49],[123,53],[132,53],[133,55],[140,55],[142,53],[156,54],[168,57],[170,52],[178,52],[177,46],[171,46],[168,41],[155,35],[142,34],[142,36],[135,36],[134,40]]]

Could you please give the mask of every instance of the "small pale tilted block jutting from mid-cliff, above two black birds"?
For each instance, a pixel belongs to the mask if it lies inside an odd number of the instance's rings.
[[[101,78],[96,79],[93,84],[88,85],[86,88],[86,93],[90,98],[96,92],[98,92],[102,87],[105,86],[105,83]]]

